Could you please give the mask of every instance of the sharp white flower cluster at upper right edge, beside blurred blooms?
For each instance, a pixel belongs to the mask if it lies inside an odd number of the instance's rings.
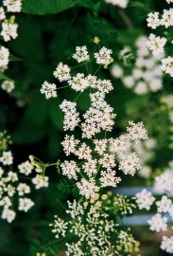
[[[166,0],[168,4],[173,3],[172,0]],[[147,14],[147,27],[156,29],[157,27],[173,27],[173,9],[164,9],[163,13],[159,12],[149,12]],[[167,33],[169,37],[169,32]],[[149,35],[147,46],[152,51],[153,55],[158,55],[164,53],[164,46],[167,42],[166,35],[164,31],[164,36],[155,36],[153,33]],[[171,34],[170,34],[171,37]],[[169,41],[169,39],[168,39]],[[171,42],[172,43],[172,42]],[[164,54],[165,55],[165,54]],[[162,60],[162,70],[173,77],[173,57],[168,56]]]

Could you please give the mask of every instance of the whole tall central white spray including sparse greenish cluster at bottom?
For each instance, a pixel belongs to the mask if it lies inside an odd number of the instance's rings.
[[[132,145],[147,139],[147,131],[143,122],[130,121],[127,132],[122,136],[109,136],[116,115],[106,101],[106,95],[113,86],[110,80],[100,79],[97,74],[101,66],[107,67],[112,63],[111,49],[103,46],[94,56],[90,56],[86,46],[77,46],[72,58],[82,67],[82,72],[60,63],[54,76],[65,84],[58,87],[43,82],[41,88],[47,100],[55,98],[57,90],[63,87],[78,93],[74,101],[63,100],[60,105],[64,113],[63,129],[69,131],[61,145],[66,157],[70,155],[70,158],[50,165],[57,166],[62,175],[75,182],[80,199],[68,201],[66,213],[71,216],[69,221],[55,215],[52,231],[58,239],[74,234],[73,239],[66,243],[67,255],[123,255],[124,251],[137,250],[138,243],[130,234],[130,229],[120,229],[111,216],[114,212],[117,215],[132,212],[135,206],[129,199],[117,195],[113,207],[109,207],[104,188],[115,188],[123,173],[133,176],[141,169],[140,159],[132,151]],[[89,72],[93,69],[93,60],[98,66],[94,65],[95,71]],[[87,74],[83,67],[86,67]],[[90,107],[81,115],[78,101],[83,91],[88,92]],[[79,138],[72,134],[75,130]],[[50,165],[45,164],[44,170]]]

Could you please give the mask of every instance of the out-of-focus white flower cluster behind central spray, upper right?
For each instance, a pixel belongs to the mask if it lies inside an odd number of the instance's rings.
[[[132,70],[124,70],[118,64],[112,64],[111,73],[115,79],[121,79],[127,88],[138,95],[149,91],[157,92],[163,87],[163,72],[160,61],[163,54],[152,56],[147,48],[147,37],[140,36],[136,40],[136,62]]]

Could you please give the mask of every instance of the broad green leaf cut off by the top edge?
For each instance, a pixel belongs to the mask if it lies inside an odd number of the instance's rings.
[[[22,11],[29,14],[58,13],[75,6],[94,8],[92,0],[23,0]]]

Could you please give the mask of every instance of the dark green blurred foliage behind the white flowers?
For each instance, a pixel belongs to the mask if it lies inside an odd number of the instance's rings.
[[[148,32],[147,12],[153,8],[163,9],[163,2],[130,1],[128,9],[118,9],[98,0],[23,0],[23,11],[16,15],[19,36],[7,44],[10,52],[22,60],[11,62],[6,72],[16,82],[16,87],[10,95],[3,90],[0,92],[0,130],[7,130],[13,140],[16,165],[31,154],[45,162],[63,158],[63,116],[59,104],[63,99],[75,99],[77,93],[69,89],[60,90],[58,98],[49,101],[40,93],[44,81],[61,85],[53,77],[57,64],[74,65],[70,57],[76,46],[87,46],[90,53],[101,46],[112,48],[114,63],[119,64],[123,62],[119,58],[120,50],[130,46],[132,58],[125,66],[130,68],[135,64],[134,42],[138,36]],[[100,40],[98,45],[94,43],[95,37]],[[101,77],[110,79],[108,69],[99,72]],[[135,95],[119,80],[112,79],[112,83],[114,90],[108,96],[108,102],[117,115],[113,136],[124,133],[129,120],[143,121],[148,136],[154,137],[157,143],[155,157],[149,162],[152,174],[148,180],[144,181],[141,176],[123,177],[120,186],[151,184],[154,174],[162,172],[172,158],[169,109],[161,102],[163,96],[172,93],[170,78],[164,78],[162,91],[141,96]],[[82,112],[87,108],[87,96],[83,93],[78,99],[78,109]],[[49,190],[43,189],[34,194],[33,209],[19,214],[10,226],[1,221],[1,229],[4,230],[0,235],[1,256],[34,256],[54,240],[47,228],[48,220],[56,211],[62,214],[63,202],[71,191],[64,193],[65,180],[57,188],[59,176],[54,169],[50,170],[50,176],[54,183]],[[166,255],[159,250],[158,238],[148,240],[151,236],[148,228],[144,232],[142,228],[138,229],[134,229],[134,234],[141,233],[144,256]],[[42,246],[39,241],[42,241]],[[51,251],[47,253],[53,255]]]

